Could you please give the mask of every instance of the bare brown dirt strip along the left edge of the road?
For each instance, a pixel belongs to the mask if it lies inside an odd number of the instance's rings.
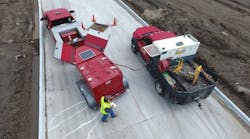
[[[32,64],[38,48],[33,39],[34,1],[1,0],[0,9],[0,138],[27,139],[34,124]]]

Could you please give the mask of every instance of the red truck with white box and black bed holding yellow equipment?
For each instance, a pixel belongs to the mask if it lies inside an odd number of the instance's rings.
[[[131,50],[138,54],[155,79],[156,92],[177,104],[207,98],[214,80],[193,62],[200,42],[191,34],[176,36],[153,26],[137,28]]]

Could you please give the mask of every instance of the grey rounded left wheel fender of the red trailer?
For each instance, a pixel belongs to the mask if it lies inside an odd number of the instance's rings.
[[[96,103],[94,97],[92,96],[91,92],[89,91],[88,87],[84,83],[84,81],[79,80],[79,81],[76,82],[76,85],[78,86],[80,92],[84,96],[88,106],[91,109],[97,109],[97,103]]]

